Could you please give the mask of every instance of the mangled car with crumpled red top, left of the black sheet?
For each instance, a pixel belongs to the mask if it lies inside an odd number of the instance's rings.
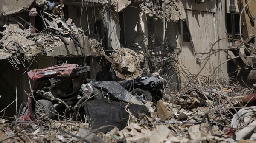
[[[32,119],[38,118],[41,110],[52,119],[55,119],[55,111],[60,114],[64,112],[64,116],[72,117],[70,107],[76,110],[83,99],[80,89],[87,71],[90,71],[89,66],[81,67],[77,64],[56,65],[29,71],[29,78],[35,81],[32,90],[34,100],[29,96],[28,103]]]

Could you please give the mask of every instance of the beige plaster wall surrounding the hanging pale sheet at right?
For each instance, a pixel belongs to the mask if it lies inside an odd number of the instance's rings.
[[[222,0],[219,0],[218,7],[216,7],[215,1],[209,1],[206,0],[205,3],[196,4],[195,1],[191,0],[183,0],[183,5],[185,9],[189,10],[196,10],[201,11],[203,13],[204,11],[214,12],[212,13],[214,18],[213,26],[215,28],[215,32],[212,33],[215,36],[215,41],[217,39],[226,38],[226,12],[225,12],[225,2]],[[195,15],[194,18],[197,16]],[[215,42],[214,41],[214,42]],[[212,42],[212,43],[214,43]],[[228,48],[227,47],[227,40],[221,40],[218,42],[215,46],[215,48]],[[209,49],[208,49],[209,51]],[[201,63],[197,64],[197,56],[195,55],[192,45],[190,42],[183,42],[181,40],[181,53],[179,56],[179,62],[180,62],[180,70],[185,70],[181,72],[180,77],[181,81],[184,85],[184,82],[186,81],[186,76],[190,74],[198,74],[198,72],[203,68],[203,65],[205,63],[205,59],[207,59],[208,54],[204,54],[200,59]],[[212,73],[210,72],[210,69],[214,69],[218,66],[218,64],[224,62],[227,59],[227,54],[224,52],[216,53],[215,55],[212,55],[210,58],[210,62],[206,64],[202,72],[200,73],[201,76],[209,76]],[[209,66],[210,65],[210,66]],[[228,78],[227,76],[227,64],[223,64],[216,70],[215,72],[216,78]]]

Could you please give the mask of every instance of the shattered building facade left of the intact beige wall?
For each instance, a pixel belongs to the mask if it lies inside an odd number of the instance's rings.
[[[14,10],[9,8],[12,3],[17,7]],[[1,5],[0,59],[7,60],[16,73],[24,75],[32,67],[65,60],[90,65],[90,76],[94,78],[106,61],[113,63],[113,72],[120,80],[178,70],[178,23],[186,19],[179,0],[35,0],[2,1]],[[168,65],[161,65],[165,60]],[[175,66],[170,67],[169,63]],[[173,72],[163,68],[172,68]],[[3,80],[9,86],[9,81]],[[179,82],[177,77],[175,80]],[[27,81],[15,84],[20,91],[29,89]],[[20,94],[26,101],[26,94]]]

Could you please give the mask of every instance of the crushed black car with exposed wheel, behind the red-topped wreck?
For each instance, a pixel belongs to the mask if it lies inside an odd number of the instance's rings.
[[[164,88],[165,79],[161,76],[138,76],[135,79],[122,81],[117,78],[113,64],[106,62],[101,70],[96,75],[98,81],[118,81],[119,84],[126,90],[131,92],[138,100],[152,102],[154,98],[156,101],[162,98],[161,90]]]

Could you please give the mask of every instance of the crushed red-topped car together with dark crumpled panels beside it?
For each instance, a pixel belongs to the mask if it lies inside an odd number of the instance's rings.
[[[87,71],[90,71],[89,66],[77,64],[61,64],[29,71],[28,76],[35,83],[21,114],[24,121],[45,115],[55,120],[84,121],[86,115],[93,128],[111,124],[122,129],[125,127],[122,124],[127,121],[120,123],[119,120],[129,117],[127,110],[137,118],[138,112],[148,114],[144,102],[118,82],[87,79]],[[104,109],[99,109],[101,107]],[[110,112],[120,114],[115,117]],[[102,118],[101,123],[95,122],[99,117]],[[104,132],[109,130],[111,128],[106,128]]]

